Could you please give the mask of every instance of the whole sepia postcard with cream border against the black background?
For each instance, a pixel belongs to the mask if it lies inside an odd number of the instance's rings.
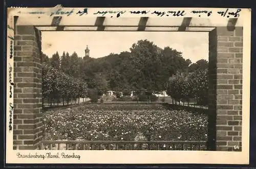
[[[248,9],[11,12],[6,133],[18,160],[248,153]]]

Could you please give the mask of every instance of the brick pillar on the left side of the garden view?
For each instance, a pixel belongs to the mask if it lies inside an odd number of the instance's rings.
[[[16,26],[14,35],[13,149],[34,150],[42,137],[41,35]]]

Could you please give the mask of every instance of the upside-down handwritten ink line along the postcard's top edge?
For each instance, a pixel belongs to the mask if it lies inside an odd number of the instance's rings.
[[[224,9],[221,11],[217,11],[216,14],[223,16],[223,17],[239,17],[240,16],[241,9]],[[20,12],[18,12],[20,13]],[[43,11],[36,11],[36,12],[29,12],[29,14],[45,14],[46,12]],[[79,11],[74,11],[74,9],[67,11],[65,9],[58,9],[56,11],[50,12],[50,16],[54,15],[78,15],[78,16],[84,16],[87,15],[88,8],[84,8],[83,10]],[[110,16],[110,17],[120,17],[126,13],[133,14],[133,15],[145,15],[145,14],[151,14],[155,16],[185,16],[187,13],[190,14],[195,14],[195,16],[198,17],[209,17],[213,14],[212,11],[210,10],[191,10],[191,11],[186,11],[186,10],[173,10],[173,11],[157,11],[157,10],[138,10],[138,11],[122,11],[122,10],[105,10],[105,11],[94,11],[93,15],[97,16]]]

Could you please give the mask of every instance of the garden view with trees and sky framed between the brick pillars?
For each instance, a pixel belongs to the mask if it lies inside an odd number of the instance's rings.
[[[43,32],[42,39],[44,148],[57,140],[67,150],[75,148],[66,143],[206,150],[207,33]],[[68,41],[76,43],[62,52]]]

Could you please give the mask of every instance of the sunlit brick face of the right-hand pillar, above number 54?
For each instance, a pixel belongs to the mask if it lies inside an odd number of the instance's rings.
[[[209,39],[213,39],[214,34],[217,38],[217,68],[214,79],[217,151],[234,151],[234,146],[239,146],[236,151],[241,151],[243,29],[236,27],[234,31],[228,31],[227,27],[217,27],[209,33]]]

